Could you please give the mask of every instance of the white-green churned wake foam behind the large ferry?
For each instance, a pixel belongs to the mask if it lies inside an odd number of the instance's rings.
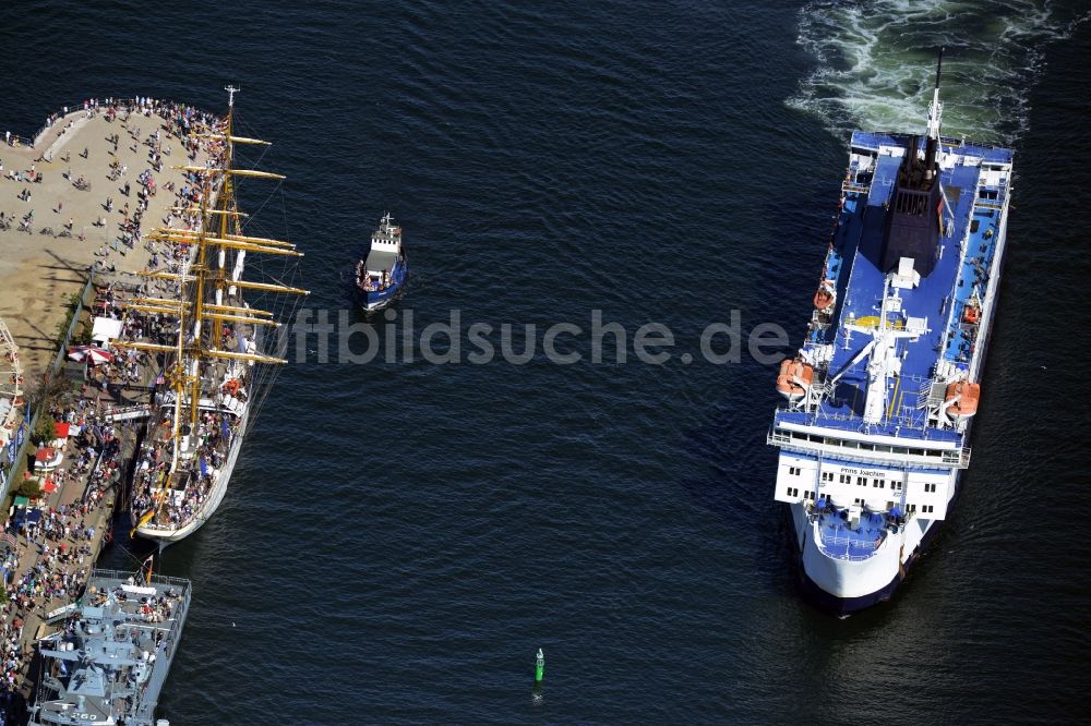
[[[945,46],[944,134],[1010,144],[1027,131],[1044,47],[1089,17],[1050,0],[816,0],[800,11],[799,43],[818,68],[788,105],[841,136],[923,131]]]

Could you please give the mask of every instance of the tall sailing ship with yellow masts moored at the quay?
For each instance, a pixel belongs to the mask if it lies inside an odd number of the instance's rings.
[[[240,180],[284,177],[235,168],[236,146],[269,142],[235,134],[238,89],[226,90],[227,117],[209,133],[192,134],[218,153],[206,167],[181,167],[194,182],[194,206],[175,211],[196,223],[148,235],[178,251],[176,269],[143,274],[173,294],[133,300],[128,307],[142,316],[135,327],[143,335],[119,343],[163,360],[130,487],[133,534],[160,547],[195,532],[223,501],[245,434],[287,363],[283,339],[271,332],[308,294],[293,285],[303,256],[295,244],[243,234]]]

